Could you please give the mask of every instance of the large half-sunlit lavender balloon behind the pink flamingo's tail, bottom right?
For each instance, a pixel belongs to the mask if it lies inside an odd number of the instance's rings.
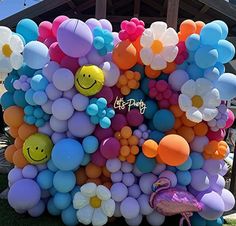
[[[218,217],[221,217],[225,205],[220,197],[215,191],[202,192],[197,196],[198,201],[203,204],[202,211],[198,214],[206,220],[216,220]]]

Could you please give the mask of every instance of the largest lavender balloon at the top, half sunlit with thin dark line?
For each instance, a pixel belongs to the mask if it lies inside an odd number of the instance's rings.
[[[77,58],[85,56],[90,51],[93,35],[83,21],[68,19],[59,26],[57,40],[64,53]]]

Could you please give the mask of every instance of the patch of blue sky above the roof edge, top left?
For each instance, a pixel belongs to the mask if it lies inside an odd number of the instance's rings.
[[[26,0],[26,7],[37,4],[40,0]],[[0,0],[0,20],[25,9],[24,0]]]

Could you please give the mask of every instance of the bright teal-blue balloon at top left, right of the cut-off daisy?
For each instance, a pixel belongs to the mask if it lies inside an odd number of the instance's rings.
[[[16,25],[16,33],[23,36],[26,43],[38,39],[38,25],[31,19],[23,19]]]

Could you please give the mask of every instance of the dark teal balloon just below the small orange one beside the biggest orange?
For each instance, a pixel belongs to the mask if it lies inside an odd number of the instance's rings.
[[[140,153],[136,159],[136,167],[142,173],[150,173],[156,166],[155,158],[147,158],[143,153]]]

